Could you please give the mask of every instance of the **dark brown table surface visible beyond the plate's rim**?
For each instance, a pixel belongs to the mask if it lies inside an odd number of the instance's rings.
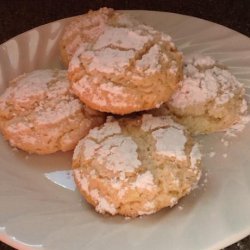
[[[196,16],[250,36],[249,0],[0,0],[0,44],[36,26],[102,6]],[[0,250],[13,249],[0,242]],[[250,236],[226,250],[250,250]]]

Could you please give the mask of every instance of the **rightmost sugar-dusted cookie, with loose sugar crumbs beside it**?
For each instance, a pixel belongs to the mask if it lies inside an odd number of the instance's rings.
[[[166,106],[193,134],[225,130],[247,112],[244,86],[211,57],[187,60],[181,85]]]

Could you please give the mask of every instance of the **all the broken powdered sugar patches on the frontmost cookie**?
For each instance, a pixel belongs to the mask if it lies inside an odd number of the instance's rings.
[[[157,121],[156,123],[159,122],[160,127],[159,124],[156,127],[153,125],[153,122],[151,121],[152,118]],[[147,123],[147,125],[144,124],[145,130],[142,130],[142,124],[140,124],[140,122],[134,125],[141,132],[144,131],[145,134],[152,134],[152,136],[156,138],[153,142],[153,147],[155,144],[154,152],[156,154],[160,154],[161,156],[167,155],[168,157],[174,157],[174,160],[185,160],[187,164],[190,163],[190,166],[188,166],[187,169],[188,175],[190,174],[191,176],[197,177],[197,180],[194,180],[195,184],[191,184],[187,187],[186,194],[192,190],[193,186],[197,185],[197,181],[200,178],[198,161],[201,159],[201,154],[198,144],[193,145],[189,161],[185,152],[185,146],[188,140],[185,135],[186,132],[180,128],[169,126],[169,122],[166,123],[166,119],[161,121],[161,119],[158,118],[159,117],[153,117],[152,115],[144,115],[144,119],[146,119],[144,122]],[[115,124],[113,129],[111,129],[114,134],[109,133],[109,130],[107,129],[112,123]],[[120,124],[121,127],[117,127],[118,124]],[[151,168],[148,168],[147,165],[144,166],[143,162],[139,160],[140,156],[142,156],[138,155],[138,152],[140,152],[140,148],[138,148],[140,147],[140,144],[137,145],[137,139],[129,136],[132,131],[125,129],[122,124],[121,121],[115,121],[111,117],[108,119],[108,125],[106,128],[104,125],[100,128],[93,129],[94,133],[90,132],[91,136],[88,135],[81,142],[81,150],[83,150],[85,144],[83,142],[86,141],[86,149],[84,150],[89,152],[88,154],[91,156],[90,166],[93,166],[93,168],[96,169],[96,180],[91,182],[92,184],[95,184],[89,194],[94,201],[96,210],[100,213],[122,213],[120,209],[123,208],[123,206],[125,206],[124,209],[126,209],[129,205],[127,203],[131,202],[132,204],[134,202],[134,196],[138,196],[138,201],[143,202],[140,207],[136,206],[136,215],[155,213],[159,207],[157,199],[155,200],[152,195],[161,195],[158,193],[160,192],[158,186],[159,176],[157,174],[155,175]],[[106,130],[106,132],[102,133],[102,129]],[[149,131],[150,133],[147,133]],[[116,132],[118,133],[116,134]],[[103,136],[103,134],[107,133],[108,136]],[[98,138],[99,135],[102,140]],[[132,133],[132,136],[133,135],[136,137],[137,133],[136,135]],[[139,134],[139,136],[141,136],[141,134]],[[88,140],[91,142],[87,142]],[[83,152],[84,151],[81,151],[81,153]],[[85,152],[83,154],[83,158],[80,159],[81,164],[83,164],[85,160],[88,160]],[[86,165],[89,167],[88,163],[86,163]],[[159,166],[156,166],[156,168],[158,167]],[[88,172],[89,170],[86,171]],[[179,178],[179,176],[175,176],[175,173],[172,173],[171,170],[169,171],[169,174],[173,175],[173,180],[171,180],[170,186],[174,186],[174,189],[181,188],[184,180]],[[102,186],[98,185],[99,181],[100,183],[103,183],[104,181],[109,185],[112,194],[110,193],[110,195],[106,195],[106,193],[102,193],[103,189]],[[86,185],[86,183],[83,181],[82,185]],[[142,192],[145,192],[145,197],[149,195],[152,198],[145,200],[144,193],[142,197],[139,198],[139,195],[141,195]],[[167,202],[168,206],[171,207],[174,206],[179,199],[179,195],[173,195],[171,193],[165,195],[168,195],[169,199],[167,198]],[[113,199],[115,199],[115,204],[117,204],[117,202],[121,204],[120,206],[116,205],[117,209],[112,203]],[[133,205],[131,206],[131,209],[134,208]]]

